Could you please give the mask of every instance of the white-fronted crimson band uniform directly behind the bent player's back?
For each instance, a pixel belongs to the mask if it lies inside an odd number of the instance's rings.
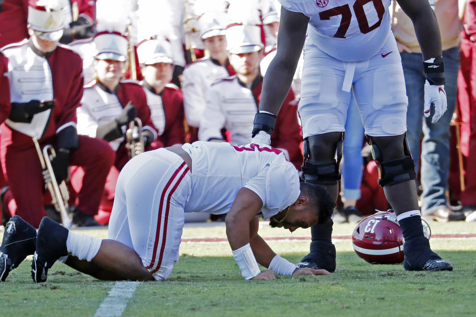
[[[207,106],[203,112],[198,137],[201,141],[222,139],[221,129],[231,132],[231,143],[247,144],[251,141],[253,118],[261,99],[263,77],[258,76],[250,89],[238,77],[231,76],[215,82],[209,89]],[[284,149],[296,166],[302,165],[301,127],[297,119],[297,105],[290,90],[276,119],[271,134],[271,146]]]

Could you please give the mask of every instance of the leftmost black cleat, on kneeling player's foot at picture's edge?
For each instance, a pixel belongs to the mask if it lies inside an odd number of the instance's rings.
[[[5,225],[0,246],[0,281],[35,252],[36,230],[20,216],[13,216]]]

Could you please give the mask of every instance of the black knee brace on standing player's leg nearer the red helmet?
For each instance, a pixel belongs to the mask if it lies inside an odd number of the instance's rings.
[[[372,157],[377,163],[378,184],[381,187],[385,185],[395,185],[412,179],[416,179],[415,162],[410,154],[407,135],[403,140],[404,157],[400,159],[390,159],[383,161],[383,155],[380,148],[372,142],[372,137],[365,135],[367,142],[372,146]]]

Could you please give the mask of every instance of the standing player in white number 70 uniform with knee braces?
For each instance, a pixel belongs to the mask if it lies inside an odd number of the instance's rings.
[[[277,53],[264,78],[252,142],[266,140],[273,130],[275,114],[291,86],[305,45],[299,102],[304,180],[325,186],[337,199],[345,114],[352,89],[379,166],[379,184],[405,237],[405,269],[451,270],[450,263],[431,251],[422,232],[415,166],[405,134],[408,99],[401,59],[390,30],[391,1],[345,0],[338,7],[327,0],[279,1]],[[428,0],[397,1],[415,26],[426,74],[424,115],[432,115],[436,122],[447,103],[438,24]],[[342,13],[335,17],[335,12]],[[302,259],[302,266],[335,269],[331,232],[332,220],[311,228],[310,253]]]

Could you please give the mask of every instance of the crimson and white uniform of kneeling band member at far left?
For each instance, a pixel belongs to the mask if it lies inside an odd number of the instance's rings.
[[[17,206],[10,212],[38,226],[45,215],[44,181],[32,136],[43,147],[55,144],[55,135],[62,129],[76,126],[76,108],[83,92],[82,62],[62,45],[41,56],[28,40],[9,45],[4,52],[9,60],[12,102],[55,100],[53,109],[35,114],[31,123],[7,119],[1,125],[1,165]],[[79,137],[79,148],[71,152],[70,165],[83,166],[86,171],[76,200],[78,209],[86,214],[98,210],[98,188],[103,188],[105,169],[113,162],[111,152],[105,142],[88,137]]]

